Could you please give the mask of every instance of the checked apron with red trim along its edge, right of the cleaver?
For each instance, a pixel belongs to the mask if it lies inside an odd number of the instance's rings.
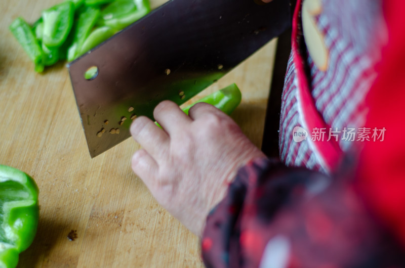
[[[314,19],[329,50],[328,69],[323,72],[305,48],[298,1],[279,128],[280,159],[288,166],[330,172],[339,165],[342,152],[354,144],[343,139],[343,131],[357,131],[365,123],[365,96],[380,59],[381,36],[376,33],[382,32],[378,29],[383,20],[379,5],[379,1],[367,0],[322,1],[322,12]],[[308,132],[308,139],[293,141],[296,126]],[[317,129],[325,131],[324,137],[312,141],[311,134]],[[336,130],[338,142],[334,137],[327,142],[331,129]]]

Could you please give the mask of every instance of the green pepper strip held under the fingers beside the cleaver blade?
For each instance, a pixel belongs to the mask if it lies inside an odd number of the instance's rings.
[[[199,99],[195,103],[184,107],[182,110],[188,115],[188,111],[194,104],[199,102],[205,102],[211,105],[214,105],[227,115],[230,115],[236,107],[240,104],[242,100],[242,95],[239,88],[235,83],[228,85],[227,87],[222,88],[222,90],[216,91],[204,98]],[[161,127],[157,122],[155,124]]]

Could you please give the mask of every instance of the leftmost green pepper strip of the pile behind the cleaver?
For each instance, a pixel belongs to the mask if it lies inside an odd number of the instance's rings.
[[[34,62],[35,71],[42,72],[44,70],[44,66],[42,65],[43,51],[39,46],[31,26],[20,17],[15,19],[10,25],[10,31],[21,44],[29,58]]]

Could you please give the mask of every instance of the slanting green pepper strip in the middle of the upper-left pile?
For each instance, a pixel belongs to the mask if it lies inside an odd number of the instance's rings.
[[[72,61],[81,55],[80,53],[82,51],[83,43],[96,24],[100,14],[99,9],[95,9],[92,7],[83,7],[80,8],[77,12],[77,20],[74,22],[71,30],[73,40],[67,52],[68,61]]]

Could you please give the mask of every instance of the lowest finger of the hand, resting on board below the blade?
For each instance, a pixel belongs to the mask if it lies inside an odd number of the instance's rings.
[[[158,173],[158,164],[145,149],[139,149],[132,156],[132,170],[150,189]]]

